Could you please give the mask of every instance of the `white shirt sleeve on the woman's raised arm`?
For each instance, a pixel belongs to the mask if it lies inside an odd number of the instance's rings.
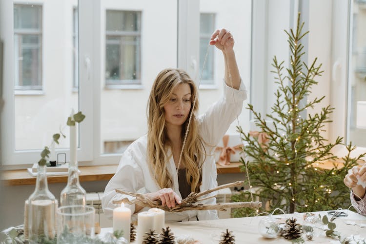
[[[214,146],[222,139],[230,124],[242,112],[246,97],[243,81],[240,81],[239,90],[227,86],[224,82],[224,96],[198,118],[204,142]]]

